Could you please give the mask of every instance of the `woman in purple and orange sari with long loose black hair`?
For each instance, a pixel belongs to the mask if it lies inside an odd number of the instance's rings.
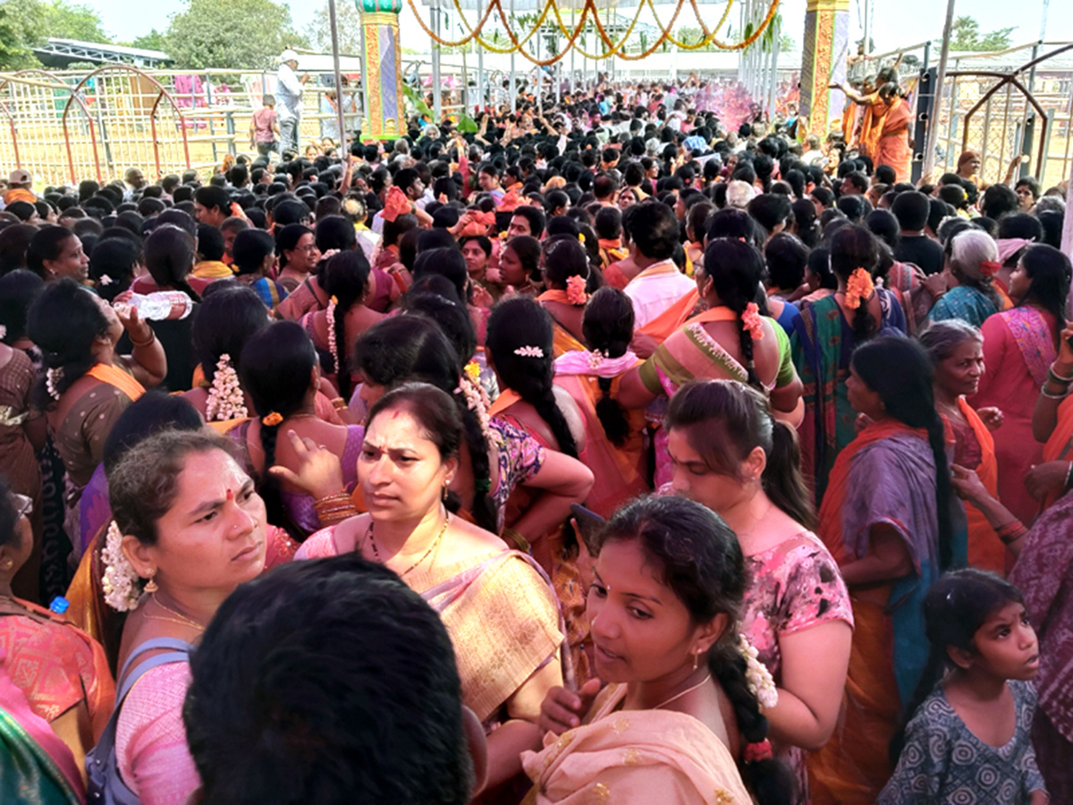
[[[808,760],[815,805],[874,803],[893,771],[887,747],[928,656],[921,603],[966,546],[952,525],[950,471],[923,348],[881,337],[853,353],[850,405],[867,422],[835,462],[820,538],[853,605],[843,715]]]

